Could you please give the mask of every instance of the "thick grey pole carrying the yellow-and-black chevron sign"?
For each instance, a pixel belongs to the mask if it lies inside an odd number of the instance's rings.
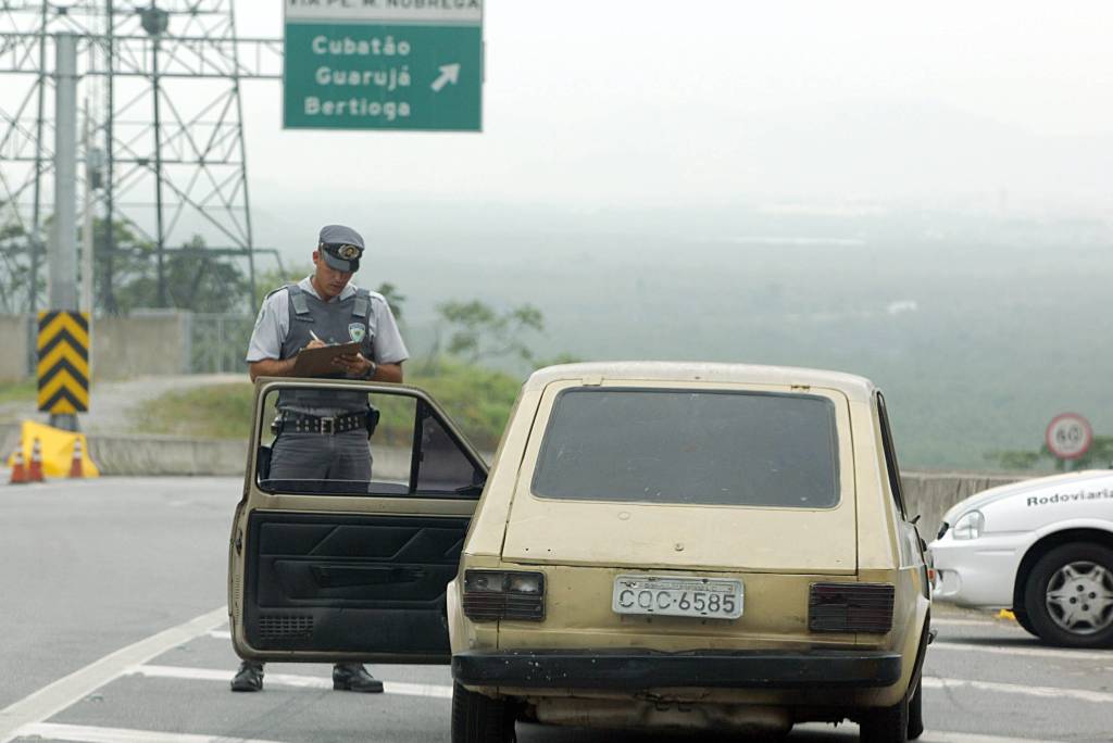
[[[49,247],[50,309],[77,309],[77,36],[55,37],[55,222]],[[77,415],[50,415],[77,430]]]

